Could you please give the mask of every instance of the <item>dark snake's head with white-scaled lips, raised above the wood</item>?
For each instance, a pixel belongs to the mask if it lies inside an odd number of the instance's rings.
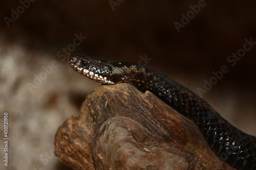
[[[111,79],[112,66],[105,61],[95,60],[84,54],[71,53],[69,65],[81,75],[103,84],[115,84]]]

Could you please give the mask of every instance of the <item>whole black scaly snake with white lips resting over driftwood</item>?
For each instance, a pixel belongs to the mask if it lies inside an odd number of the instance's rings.
[[[227,164],[237,169],[256,169],[256,137],[231,125],[199,95],[178,82],[138,63],[98,61],[78,53],[71,53],[68,62],[79,74],[96,82],[130,83],[142,92],[152,92],[193,120],[210,148]]]

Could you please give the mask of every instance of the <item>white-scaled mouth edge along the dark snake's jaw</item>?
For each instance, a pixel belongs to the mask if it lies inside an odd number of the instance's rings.
[[[82,67],[79,67],[77,65],[75,65],[74,63],[71,63],[69,61],[69,65],[77,72],[79,72],[81,75],[83,76],[86,76],[96,82],[100,82],[100,83],[103,83],[103,84],[115,84],[114,82],[108,80],[106,77],[102,77],[98,74],[95,74],[94,72],[92,71],[89,71],[88,69],[86,68],[82,68]]]

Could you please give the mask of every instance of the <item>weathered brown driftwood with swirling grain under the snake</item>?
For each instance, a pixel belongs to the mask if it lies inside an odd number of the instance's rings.
[[[54,144],[72,169],[233,169],[191,120],[130,84],[97,87]]]

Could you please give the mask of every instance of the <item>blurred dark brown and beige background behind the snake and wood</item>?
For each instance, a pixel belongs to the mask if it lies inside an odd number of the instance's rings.
[[[52,156],[55,132],[99,85],[59,57],[65,54],[62,48],[73,44],[75,34],[87,37],[75,52],[131,62],[146,55],[151,59],[146,66],[196,93],[214,76],[212,71],[226,65],[229,71],[203,98],[231,124],[256,135],[256,44],[234,66],[227,61],[243,48],[245,39],[256,42],[256,2],[205,1],[178,32],[174,22],[181,23],[181,14],[200,2],[37,0],[22,11],[20,2],[2,1],[0,111],[9,113],[8,168],[66,168]],[[7,24],[6,17],[12,19],[17,8],[19,16]],[[29,90],[28,83],[33,84],[53,60],[58,66]],[[2,136],[2,128],[0,132]],[[0,167],[7,168],[3,163]]]

